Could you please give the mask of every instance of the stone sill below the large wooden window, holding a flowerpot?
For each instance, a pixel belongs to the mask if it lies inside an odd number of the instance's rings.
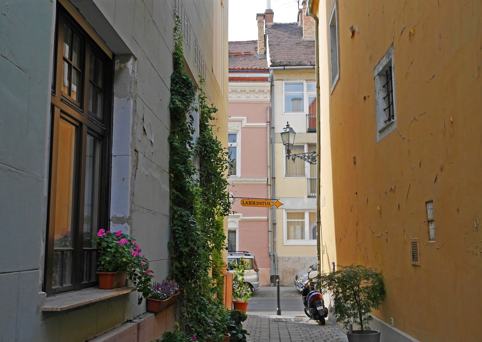
[[[95,287],[80,291],[61,293],[51,297],[47,297],[45,299],[45,304],[42,306],[42,311],[61,312],[75,309],[109,298],[114,298],[135,290],[135,287],[128,286],[112,290],[100,290],[99,288]]]

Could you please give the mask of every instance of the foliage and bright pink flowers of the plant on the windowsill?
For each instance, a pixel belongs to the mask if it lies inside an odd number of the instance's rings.
[[[98,246],[97,270],[99,272],[124,272],[142,293],[142,298],[147,298],[153,272],[149,269],[149,262],[142,255],[139,245],[128,234],[119,230],[112,233],[110,230],[99,229],[97,236],[92,239]]]

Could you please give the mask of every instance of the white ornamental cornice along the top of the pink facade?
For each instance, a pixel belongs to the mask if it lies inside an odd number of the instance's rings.
[[[269,102],[269,82],[229,82],[230,102]]]

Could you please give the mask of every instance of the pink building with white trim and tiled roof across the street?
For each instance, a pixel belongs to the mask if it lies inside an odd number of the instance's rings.
[[[228,251],[254,253],[260,285],[270,284],[268,208],[246,207],[241,198],[268,199],[269,88],[266,57],[257,41],[229,42],[228,146],[233,162],[229,191]]]

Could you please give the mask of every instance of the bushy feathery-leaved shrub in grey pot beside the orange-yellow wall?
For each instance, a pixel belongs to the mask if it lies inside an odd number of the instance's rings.
[[[372,310],[377,310],[385,299],[385,286],[381,272],[362,265],[340,266],[332,273],[318,276],[317,285],[323,292],[331,292],[332,312],[346,330],[352,324],[359,330],[347,332],[349,342],[380,341],[380,331],[371,330]]]

